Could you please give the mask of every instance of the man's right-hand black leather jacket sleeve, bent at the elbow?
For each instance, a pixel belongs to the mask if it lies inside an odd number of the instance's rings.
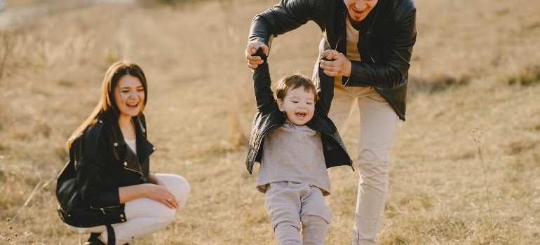
[[[351,61],[351,77],[344,78],[344,86],[374,86],[392,88],[400,85],[410,67],[412,46],[416,42],[416,8],[410,1],[396,16],[393,36],[386,39],[381,50],[381,61]]]

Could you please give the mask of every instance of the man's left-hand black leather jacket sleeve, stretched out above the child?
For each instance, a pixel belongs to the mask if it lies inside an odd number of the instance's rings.
[[[273,8],[255,15],[251,22],[249,41],[259,41],[270,47],[274,37],[297,29],[311,20],[317,2],[281,0]]]

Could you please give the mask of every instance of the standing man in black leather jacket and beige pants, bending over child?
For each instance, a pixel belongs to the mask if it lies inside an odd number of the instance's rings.
[[[405,120],[407,72],[416,41],[416,8],[412,0],[281,0],[253,18],[245,57],[248,67],[262,64],[255,47],[269,55],[275,36],[312,20],[323,31],[317,62],[335,76],[329,117],[344,134],[358,105],[358,199],[352,244],[377,244],[388,192],[390,148],[398,118]],[[318,76],[317,72],[313,76]],[[318,80],[313,78],[313,80]]]

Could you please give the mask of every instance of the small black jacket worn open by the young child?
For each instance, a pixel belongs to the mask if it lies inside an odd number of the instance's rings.
[[[248,158],[245,160],[245,167],[250,174],[255,162],[261,162],[262,145],[264,137],[272,130],[281,127],[285,123],[285,114],[279,110],[278,103],[274,99],[274,92],[271,90],[270,71],[266,55],[262,50],[257,50],[257,56],[261,56],[264,64],[259,64],[253,70],[253,87],[255,88],[255,99],[257,100],[257,113],[253,118],[251,128],[250,148]],[[321,73],[317,81],[318,102],[315,103],[315,113],[313,118],[306,124],[312,130],[320,132],[320,140],[323,142],[323,153],[326,167],[336,167],[348,165],[353,167],[353,161],[343,144],[342,137],[339,136],[337,128],[328,118],[330,103],[334,97],[334,78],[326,76],[323,69],[318,69]],[[354,170],[354,169],[353,169]]]

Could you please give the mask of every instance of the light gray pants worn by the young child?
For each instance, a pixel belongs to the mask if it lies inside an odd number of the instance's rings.
[[[325,243],[332,211],[326,207],[319,188],[289,181],[270,183],[265,200],[278,245]]]

